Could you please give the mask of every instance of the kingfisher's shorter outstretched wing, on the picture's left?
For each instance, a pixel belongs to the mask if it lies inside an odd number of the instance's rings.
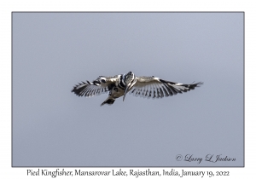
[[[96,78],[96,80],[94,80],[93,82],[87,81],[87,83],[82,82],[82,84],[79,83],[75,85],[71,92],[75,93],[76,95],[84,95],[86,97],[101,95],[102,93],[106,93],[111,90],[118,78],[119,75],[116,75],[114,77],[100,76],[99,78]]]

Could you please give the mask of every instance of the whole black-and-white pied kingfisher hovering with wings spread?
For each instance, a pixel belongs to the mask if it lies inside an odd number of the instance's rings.
[[[179,84],[166,81],[160,78],[136,77],[133,72],[115,75],[113,77],[100,76],[93,82],[87,81],[77,84],[73,87],[72,92],[79,96],[90,97],[93,95],[101,95],[109,91],[108,98],[102,102],[102,105],[112,105],[115,99],[124,96],[130,91],[130,94],[147,98],[162,98],[164,96],[172,96],[177,93],[187,92],[199,87],[201,82],[197,84]],[[101,105],[101,106],[102,106]]]

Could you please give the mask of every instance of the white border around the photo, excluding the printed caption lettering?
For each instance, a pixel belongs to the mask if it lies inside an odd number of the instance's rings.
[[[73,0],[73,1],[32,1],[32,0],[2,0],[0,3],[0,176],[1,178],[27,178],[26,168],[12,168],[11,167],[11,12],[12,11],[244,11],[245,12],[245,84],[250,83],[245,91],[245,127],[246,127],[246,147],[245,168],[184,168],[184,170],[230,170],[231,178],[241,178],[243,176],[254,176],[255,164],[255,111],[253,106],[254,101],[254,79],[255,79],[255,8],[253,9],[253,1],[223,1],[223,0]],[[232,64],[230,64],[232,65]],[[228,67],[228,66],[227,66]],[[247,86],[247,85],[246,85]],[[35,168],[34,168],[35,169]],[[45,168],[46,169],[46,168]],[[85,168],[82,168],[86,170]],[[136,168],[135,168],[136,169]],[[54,170],[50,168],[49,170]],[[67,168],[67,170],[74,170],[74,168]],[[100,168],[90,168],[88,170],[100,170]],[[102,169],[104,170],[104,169]],[[107,168],[106,170],[112,170]],[[117,170],[117,168],[115,168]],[[129,170],[129,169],[124,169]],[[142,170],[142,168],[140,169]],[[161,170],[154,168],[153,170]],[[168,168],[167,170],[170,170]],[[175,170],[182,170],[182,168],[175,168]],[[35,177],[35,176],[33,176]],[[42,176],[39,176],[41,178]],[[45,176],[44,176],[45,177]],[[50,177],[50,176],[46,176]],[[57,176],[60,177],[61,176]],[[89,176],[82,176],[89,177]],[[99,178],[92,176],[94,178]],[[118,177],[118,176],[116,176]],[[139,176],[143,177],[143,176]],[[170,177],[170,176],[169,176]],[[215,176],[216,177],[216,176]],[[227,176],[225,176],[227,177]],[[38,178],[38,177],[37,177]],[[109,178],[109,177],[108,177]],[[113,176],[112,176],[113,178]],[[119,178],[119,177],[118,177]],[[125,177],[127,178],[127,177]],[[129,178],[129,177],[128,177]],[[133,177],[134,178],[134,177]],[[150,177],[148,177],[150,178]],[[253,177],[249,177],[253,178]]]

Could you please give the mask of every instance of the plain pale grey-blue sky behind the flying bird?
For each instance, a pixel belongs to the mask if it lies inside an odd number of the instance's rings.
[[[71,93],[129,71],[204,85],[103,107]],[[243,14],[14,13],[13,165],[242,166]]]

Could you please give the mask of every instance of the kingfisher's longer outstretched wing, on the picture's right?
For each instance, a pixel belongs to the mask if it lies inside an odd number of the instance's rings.
[[[177,95],[177,93],[194,90],[195,87],[203,84],[179,84],[169,82],[155,77],[137,77],[137,83],[134,85],[130,94],[148,98],[162,98],[164,96]]]

